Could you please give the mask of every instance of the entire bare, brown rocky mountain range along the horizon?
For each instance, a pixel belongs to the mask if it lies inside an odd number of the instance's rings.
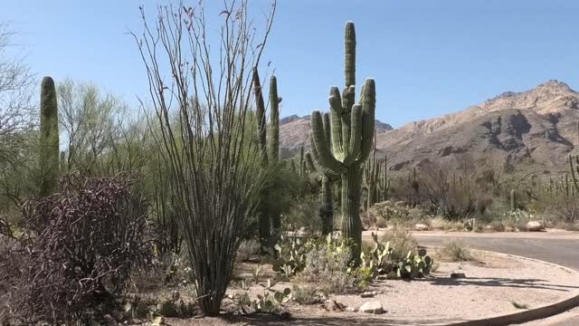
[[[458,158],[506,170],[565,171],[567,156],[579,154],[579,93],[549,81],[529,91],[507,91],[480,105],[439,118],[408,123],[377,134],[393,170],[438,161],[450,168]],[[376,125],[377,126],[377,125]],[[308,145],[308,120],[280,127],[286,156]]]

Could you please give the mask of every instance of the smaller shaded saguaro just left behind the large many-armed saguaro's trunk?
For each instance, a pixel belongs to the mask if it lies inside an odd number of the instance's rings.
[[[319,184],[319,217],[322,221],[322,235],[331,234],[334,228],[334,202],[332,200],[332,179],[337,175],[320,173],[311,153],[306,153],[306,166],[310,178],[314,179]]]

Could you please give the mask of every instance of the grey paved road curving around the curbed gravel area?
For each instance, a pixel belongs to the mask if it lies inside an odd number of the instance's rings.
[[[421,245],[443,245],[449,239],[460,239],[471,248],[504,254],[517,254],[550,263],[561,264],[579,271],[579,235],[562,234],[429,234],[414,233]],[[547,318],[527,322],[526,326],[579,326],[579,308]]]

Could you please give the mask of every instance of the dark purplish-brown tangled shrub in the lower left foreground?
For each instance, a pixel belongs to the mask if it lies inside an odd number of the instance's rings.
[[[87,323],[150,261],[146,203],[127,177],[64,176],[59,192],[29,203],[25,234],[0,260],[0,283],[27,321]],[[10,273],[5,273],[10,271]]]

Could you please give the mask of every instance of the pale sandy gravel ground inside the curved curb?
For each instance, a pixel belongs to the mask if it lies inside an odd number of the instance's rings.
[[[477,252],[479,262],[442,263],[435,273],[422,280],[376,281],[369,291],[374,298],[361,298],[359,294],[331,295],[327,302],[315,305],[299,305],[291,302],[287,311],[291,321],[281,321],[271,315],[239,317],[232,314],[224,318],[201,318],[189,320],[168,319],[170,325],[437,325],[451,321],[466,321],[495,315],[518,312],[513,302],[534,308],[561,301],[579,293],[576,273],[552,264],[544,264],[507,255]],[[240,277],[251,275],[250,265]],[[265,269],[261,283],[266,282],[271,271]],[[451,279],[451,273],[465,273],[466,279]],[[277,283],[274,289],[290,287],[289,283]],[[252,286],[252,294],[264,291],[261,285]],[[232,290],[231,293],[236,292]],[[350,312],[367,301],[380,301],[386,311],[373,315]],[[344,312],[332,309],[333,301],[344,304]],[[234,301],[227,299],[225,310],[233,310]]]

